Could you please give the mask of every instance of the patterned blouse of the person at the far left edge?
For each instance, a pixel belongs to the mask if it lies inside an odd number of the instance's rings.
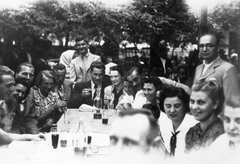
[[[0,101],[0,128],[9,132],[12,128],[15,110],[9,110],[5,101]]]

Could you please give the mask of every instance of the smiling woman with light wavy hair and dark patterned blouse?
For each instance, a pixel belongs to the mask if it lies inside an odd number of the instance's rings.
[[[192,86],[189,106],[199,123],[186,134],[186,152],[206,148],[224,133],[223,123],[218,118],[224,102],[222,95],[220,88],[211,81],[202,81]]]

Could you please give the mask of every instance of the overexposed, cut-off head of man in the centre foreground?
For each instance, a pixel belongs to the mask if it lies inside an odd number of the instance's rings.
[[[148,110],[126,110],[120,113],[109,132],[111,152],[119,155],[140,155],[157,151],[158,155],[165,156],[167,152],[158,128],[156,120]],[[141,156],[138,159],[141,161]]]

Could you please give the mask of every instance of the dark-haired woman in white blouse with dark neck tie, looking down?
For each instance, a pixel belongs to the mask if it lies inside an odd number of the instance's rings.
[[[189,95],[182,88],[167,86],[161,91],[159,102],[163,112],[159,125],[165,147],[171,156],[183,154],[186,133],[196,124],[188,114]]]

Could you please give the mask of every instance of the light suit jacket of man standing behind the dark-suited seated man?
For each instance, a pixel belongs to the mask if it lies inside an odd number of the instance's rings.
[[[100,56],[93,55],[88,53],[88,57],[86,58],[86,72],[83,72],[83,60],[81,56],[76,57],[71,61],[70,64],[70,80],[73,82],[86,82],[91,79],[90,75],[90,65],[94,61],[101,61]],[[83,73],[85,73],[85,77],[83,77]]]

